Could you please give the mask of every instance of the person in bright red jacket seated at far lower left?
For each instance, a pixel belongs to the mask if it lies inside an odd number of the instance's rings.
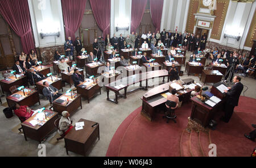
[[[18,103],[15,104],[15,110],[14,113],[16,116],[19,117],[19,120],[24,122],[27,119],[29,119],[32,114],[34,113],[34,111],[32,111],[30,108],[28,108],[28,106],[19,106]]]

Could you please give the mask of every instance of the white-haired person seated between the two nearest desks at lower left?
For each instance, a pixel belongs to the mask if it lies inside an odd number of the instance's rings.
[[[69,113],[68,111],[63,111],[62,113],[62,116],[60,118],[60,121],[59,121],[59,129],[58,132],[60,135],[67,135],[69,131],[71,131],[71,129],[73,128],[73,125],[72,125],[72,121],[70,120],[69,118]]]

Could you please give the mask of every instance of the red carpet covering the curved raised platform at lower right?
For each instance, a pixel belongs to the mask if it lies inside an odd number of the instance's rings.
[[[207,156],[208,140],[217,145],[217,156],[250,156],[256,143],[243,135],[253,130],[250,125],[256,122],[255,104],[256,99],[241,96],[230,122],[223,123],[216,116],[217,128],[210,131],[209,135],[184,131],[191,114],[191,103],[183,104],[176,110],[177,124],[172,121],[167,124],[162,118],[163,114],[156,114],[150,122],[141,115],[139,107],[119,126],[106,156]]]

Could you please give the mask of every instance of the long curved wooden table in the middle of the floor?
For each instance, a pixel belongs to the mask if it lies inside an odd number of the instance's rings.
[[[133,85],[135,83],[140,82],[141,85],[138,89],[144,89],[147,90],[147,81],[148,79],[156,78],[156,77],[167,77],[168,76],[168,71],[167,70],[155,70],[151,72],[146,72],[146,73],[141,73],[141,74],[135,74],[131,75],[126,78],[119,79],[115,82],[109,83],[109,85],[106,85],[106,91],[107,91],[107,100],[110,102],[114,102],[115,104],[118,104],[118,96],[126,98],[127,94],[127,87],[130,85]],[[146,87],[142,87],[142,81],[146,81]],[[115,86],[123,85],[124,87],[121,87],[120,89],[116,89]],[[125,94],[121,95],[119,94],[119,91],[125,89]],[[138,90],[135,89],[135,90]],[[115,93],[115,99],[109,99],[109,91],[113,91]],[[132,91],[135,91],[132,90]],[[131,92],[131,91],[130,91]]]

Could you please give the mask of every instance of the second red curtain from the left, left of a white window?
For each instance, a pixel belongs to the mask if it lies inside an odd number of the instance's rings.
[[[65,24],[66,40],[72,37],[79,29],[85,12],[86,0],[61,0],[63,19]]]

